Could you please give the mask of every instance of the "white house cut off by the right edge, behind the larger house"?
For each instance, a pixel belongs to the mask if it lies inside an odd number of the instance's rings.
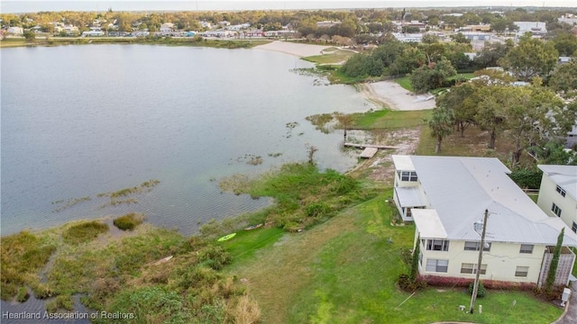
[[[537,205],[577,233],[577,166],[537,166],[543,171]]]

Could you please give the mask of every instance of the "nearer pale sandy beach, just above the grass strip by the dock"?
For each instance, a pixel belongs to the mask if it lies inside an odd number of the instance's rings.
[[[412,94],[394,81],[362,84],[361,89],[372,102],[387,105],[393,110],[410,111],[435,108],[435,96]]]

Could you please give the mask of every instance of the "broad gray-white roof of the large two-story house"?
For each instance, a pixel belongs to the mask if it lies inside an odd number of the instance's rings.
[[[509,177],[495,157],[410,157],[431,209],[447,238],[479,240],[473,223],[487,220],[487,239],[495,242],[554,245],[565,228],[563,245],[577,246],[577,235],[562,220],[549,217]]]

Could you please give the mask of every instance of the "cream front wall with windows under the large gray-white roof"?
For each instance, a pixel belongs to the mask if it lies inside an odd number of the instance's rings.
[[[532,254],[519,253],[520,247],[520,244],[491,242],[490,251],[483,251],[481,265],[487,265],[487,270],[485,275],[480,275],[481,280],[536,284],[541,271],[545,246],[535,246]],[[477,264],[479,260],[479,251],[465,250],[464,241],[451,241],[448,251],[427,251],[423,244],[420,248],[423,253],[422,264],[419,266],[421,275],[475,278],[475,274],[461,273],[463,263]],[[447,272],[427,272],[426,260],[429,258],[449,260]],[[515,276],[517,266],[528,266],[527,277]]]

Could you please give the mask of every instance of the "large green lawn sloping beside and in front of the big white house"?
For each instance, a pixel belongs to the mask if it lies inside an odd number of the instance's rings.
[[[410,295],[395,284],[408,271],[401,251],[411,247],[415,229],[390,224],[391,195],[387,190],[313,229],[281,234],[274,244],[271,233],[247,234],[264,237],[265,247],[227,271],[243,278],[266,323],[549,323],[560,316],[562,310],[519,292],[489,291],[477,302],[482,314],[474,315],[458,310],[470,303],[461,290],[427,288],[400,305]]]

